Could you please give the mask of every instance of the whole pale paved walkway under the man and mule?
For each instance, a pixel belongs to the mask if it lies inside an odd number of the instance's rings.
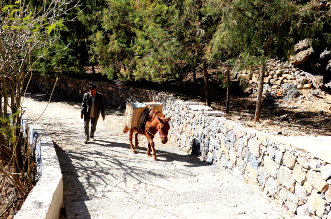
[[[46,95],[24,100],[31,119],[44,110]],[[216,166],[162,145],[158,161],[146,155],[139,136],[137,154],[122,134],[123,110],[108,109],[95,138],[83,144],[80,103],[54,98],[36,122],[54,141],[64,182],[67,218],[289,218],[256,187],[245,185]]]

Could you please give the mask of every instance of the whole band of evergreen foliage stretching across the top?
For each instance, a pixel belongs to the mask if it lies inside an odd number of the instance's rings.
[[[29,0],[40,7],[42,0]],[[41,60],[41,72],[83,72],[99,65],[109,79],[163,83],[188,70],[230,64],[257,67],[288,58],[305,38],[331,46],[330,7],[291,0],[82,0],[66,19],[68,31]],[[78,13],[79,12],[79,13]],[[77,14],[78,13],[78,14]]]

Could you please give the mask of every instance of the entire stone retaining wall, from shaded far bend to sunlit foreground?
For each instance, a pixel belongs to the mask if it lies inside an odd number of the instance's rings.
[[[54,79],[51,81],[54,84]],[[34,76],[30,90],[50,92],[52,83],[47,85],[45,77]],[[60,78],[60,90],[55,94],[67,96],[67,91],[63,93],[67,89],[71,97],[81,99],[89,83]],[[301,145],[305,149],[293,147],[290,138],[280,140],[222,117],[207,116],[189,109],[183,101],[166,93],[105,82],[96,84],[98,91],[105,95],[106,103],[112,107],[123,107],[127,101],[164,103],[164,114],[171,116],[171,130],[176,130],[169,131],[168,144],[176,144],[247,183],[259,185],[269,197],[278,199],[280,204],[299,216],[331,219],[330,155],[312,153],[323,147],[329,148],[330,137],[318,143],[318,137],[314,137],[309,142],[311,145],[303,139]]]

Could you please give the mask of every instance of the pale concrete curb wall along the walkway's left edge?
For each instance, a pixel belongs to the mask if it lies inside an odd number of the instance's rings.
[[[26,129],[26,116],[22,119],[23,131]],[[36,124],[28,125],[29,141],[33,144],[41,138],[44,130]],[[15,219],[59,218],[63,207],[63,181],[58,157],[51,137],[44,133],[35,146],[36,161],[40,178],[29,193]]]

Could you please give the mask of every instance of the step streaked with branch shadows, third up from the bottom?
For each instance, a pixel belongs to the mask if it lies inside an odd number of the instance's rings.
[[[65,202],[92,200],[102,197],[163,193],[208,187],[222,180],[225,173],[215,166],[175,170],[120,172],[103,176],[64,177]],[[220,173],[218,173],[218,172]],[[209,172],[208,174],[206,172]]]

